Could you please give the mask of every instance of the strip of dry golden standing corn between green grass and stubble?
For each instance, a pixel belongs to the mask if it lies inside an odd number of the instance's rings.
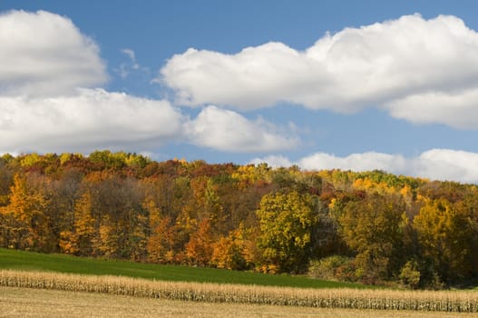
[[[306,289],[14,270],[0,271],[0,285],[190,302],[478,313],[478,292],[473,291]]]

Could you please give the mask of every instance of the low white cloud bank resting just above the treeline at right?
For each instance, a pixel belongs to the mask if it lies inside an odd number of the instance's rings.
[[[349,154],[317,153],[292,163],[283,156],[256,158],[251,164],[267,163],[271,166],[297,164],[306,170],[341,169],[356,172],[383,170],[392,174],[405,174],[431,180],[449,180],[478,183],[478,154],[450,149],[432,149],[418,156],[406,158],[401,154],[375,152]]]

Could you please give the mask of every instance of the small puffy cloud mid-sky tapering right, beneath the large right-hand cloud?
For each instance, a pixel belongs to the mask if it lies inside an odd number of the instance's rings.
[[[280,134],[275,125],[261,118],[250,121],[215,106],[204,108],[186,125],[186,132],[193,144],[235,153],[271,152],[298,144],[297,138]]]

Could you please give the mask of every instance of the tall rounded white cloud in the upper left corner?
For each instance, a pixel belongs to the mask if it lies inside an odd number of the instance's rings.
[[[98,45],[60,15],[0,15],[0,47],[0,94],[71,94],[107,80]]]

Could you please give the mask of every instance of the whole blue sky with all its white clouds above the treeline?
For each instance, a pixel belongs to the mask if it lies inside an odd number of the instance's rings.
[[[2,0],[0,12],[0,153],[478,182],[473,1]]]

